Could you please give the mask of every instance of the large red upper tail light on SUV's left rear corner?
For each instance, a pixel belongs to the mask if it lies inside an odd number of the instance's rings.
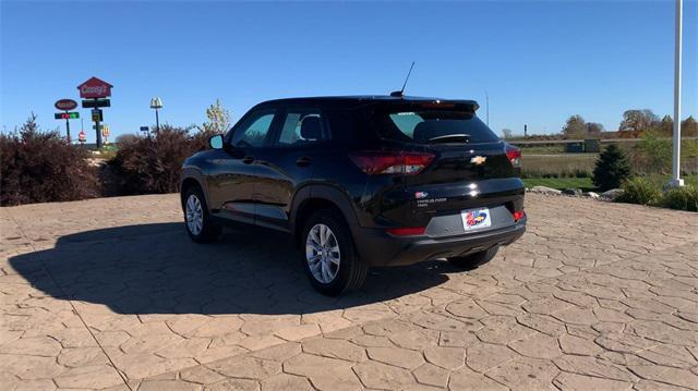
[[[349,154],[349,158],[369,175],[417,174],[434,160],[434,155],[369,150]]]

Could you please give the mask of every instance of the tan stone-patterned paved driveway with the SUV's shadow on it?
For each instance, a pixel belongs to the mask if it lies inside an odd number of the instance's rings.
[[[470,271],[316,294],[291,244],[190,243],[177,195],[0,209],[0,389],[698,389],[698,215],[527,196]]]

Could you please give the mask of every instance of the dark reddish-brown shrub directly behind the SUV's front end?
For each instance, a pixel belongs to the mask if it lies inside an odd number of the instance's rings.
[[[184,159],[208,145],[208,132],[160,126],[153,137],[120,138],[117,156],[109,161],[118,194],[161,194],[179,190]]]

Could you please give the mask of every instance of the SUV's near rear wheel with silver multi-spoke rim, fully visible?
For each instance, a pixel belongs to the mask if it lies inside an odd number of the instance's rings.
[[[320,293],[336,296],[363,286],[368,267],[344,219],[333,210],[317,210],[308,219],[300,253],[305,274]]]

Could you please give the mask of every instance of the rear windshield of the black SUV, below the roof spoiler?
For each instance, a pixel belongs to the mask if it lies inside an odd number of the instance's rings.
[[[381,137],[402,143],[462,143],[464,140],[467,143],[491,143],[498,140],[494,132],[473,112],[469,111],[375,112],[372,122]]]

